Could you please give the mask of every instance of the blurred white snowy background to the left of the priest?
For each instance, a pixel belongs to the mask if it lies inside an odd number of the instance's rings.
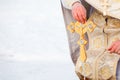
[[[0,80],[78,80],[59,0],[0,0]]]

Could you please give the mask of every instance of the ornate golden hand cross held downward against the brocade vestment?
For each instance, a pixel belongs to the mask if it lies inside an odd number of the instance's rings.
[[[81,24],[79,22],[73,23],[71,22],[70,25],[68,25],[68,30],[72,33],[76,32],[80,35],[80,39],[78,40],[78,44],[80,45],[80,60],[82,62],[85,62],[87,59],[85,45],[87,44],[87,41],[85,40],[85,33],[87,31],[92,32],[95,29],[96,25],[92,21],[88,21],[85,24]]]

